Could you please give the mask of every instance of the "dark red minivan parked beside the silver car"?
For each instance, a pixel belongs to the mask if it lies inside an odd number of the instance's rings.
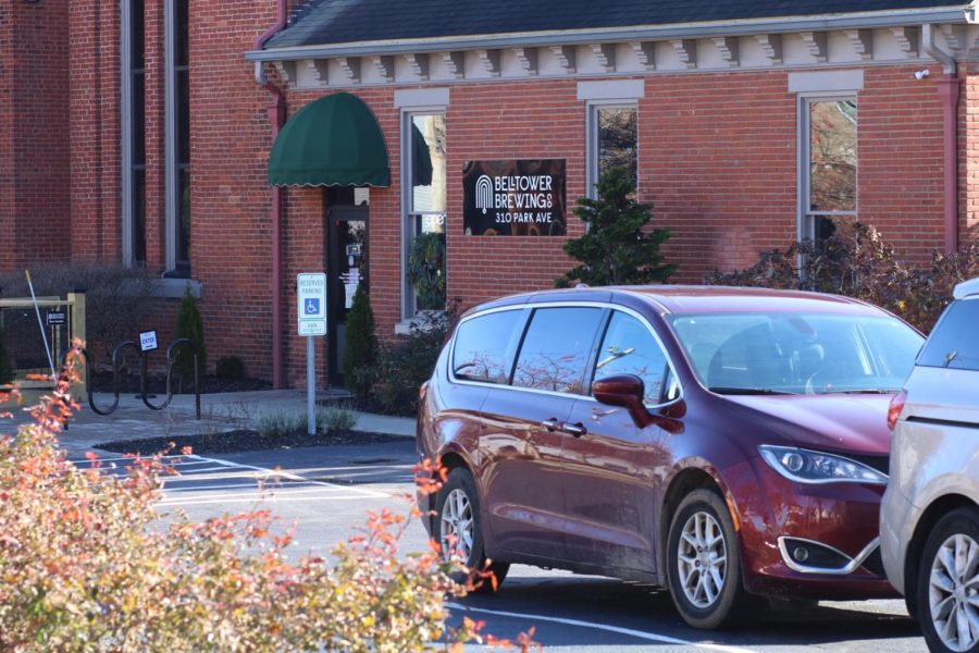
[[[492,560],[668,587],[692,626],[751,595],[893,596],[887,410],[921,335],[833,295],[579,288],[468,311],[423,386],[448,470],[426,528]]]

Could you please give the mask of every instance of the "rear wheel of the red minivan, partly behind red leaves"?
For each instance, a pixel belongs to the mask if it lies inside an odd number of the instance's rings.
[[[475,482],[468,470],[457,467],[446,478],[435,500],[435,518],[433,519],[432,538],[442,546],[446,559],[454,553],[463,558],[470,569],[486,567],[486,554],[483,551],[483,525],[480,517],[480,497]],[[456,552],[453,551],[455,542]],[[494,560],[488,570],[496,577],[496,587],[490,579],[483,580],[473,592],[493,593],[503,584],[510,570],[508,563]],[[466,582],[467,576],[458,572],[456,582]]]

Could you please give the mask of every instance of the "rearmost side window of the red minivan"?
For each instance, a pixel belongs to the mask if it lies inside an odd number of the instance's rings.
[[[453,373],[457,379],[507,383],[513,353],[523,333],[523,310],[480,316],[459,325],[453,346]]]

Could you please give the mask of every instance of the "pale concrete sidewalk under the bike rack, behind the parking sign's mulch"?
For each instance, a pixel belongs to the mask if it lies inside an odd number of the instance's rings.
[[[38,395],[27,393],[24,405]],[[325,398],[325,394],[323,395]],[[151,398],[154,405],[164,397]],[[95,404],[100,409],[112,405],[114,395],[96,393]],[[259,419],[269,414],[287,414],[306,417],[305,390],[267,390],[251,392],[215,393],[200,396],[200,420],[195,419],[194,395],[174,395],[165,409],[157,411],[146,407],[132,393],[120,396],[119,408],[109,416],[96,414],[87,397],[79,399],[82,410],[72,418],[69,429],[61,436],[62,446],[70,457],[77,457],[95,448],[96,444],[122,440],[196,435],[218,433],[235,429],[255,429]],[[0,406],[0,411],[14,412],[14,420],[0,421],[0,433],[13,433],[15,424],[30,418],[15,406]],[[388,433],[414,438],[414,419],[384,415],[358,414],[358,431]]]

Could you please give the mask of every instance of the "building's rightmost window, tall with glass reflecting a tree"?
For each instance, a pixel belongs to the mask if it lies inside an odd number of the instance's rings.
[[[842,235],[857,214],[857,104],[853,97],[802,100],[803,207],[800,235]]]

